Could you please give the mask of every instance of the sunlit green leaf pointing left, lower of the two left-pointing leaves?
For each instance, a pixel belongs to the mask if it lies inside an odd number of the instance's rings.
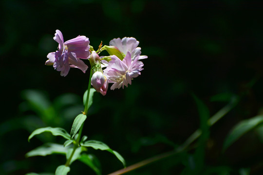
[[[47,156],[51,154],[63,154],[66,155],[69,148],[65,148],[61,144],[56,143],[45,143],[42,146],[35,148],[34,150],[29,151],[26,153],[26,157],[33,157],[33,156]]]

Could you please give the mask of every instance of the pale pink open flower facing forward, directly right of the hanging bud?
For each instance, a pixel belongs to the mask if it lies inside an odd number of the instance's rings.
[[[113,55],[109,65],[103,70],[104,75],[108,78],[109,83],[113,83],[111,89],[128,87],[131,85],[131,79],[141,74],[143,63],[138,61],[137,55],[131,61],[131,53],[128,51],[125,58],[121,61],[117,56]]]

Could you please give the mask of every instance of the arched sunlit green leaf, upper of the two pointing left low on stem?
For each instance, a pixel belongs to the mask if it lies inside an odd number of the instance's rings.
[[[32,139],[35,135],[41,134],[43,132],[51,132],[51,134],[54,136],[62,136],[63,138],[70,140],[70,135],[67,133],[67,131],[65,131],[62,128],[43,127],[33,131],[33,133],[28,137],[28,141]]]

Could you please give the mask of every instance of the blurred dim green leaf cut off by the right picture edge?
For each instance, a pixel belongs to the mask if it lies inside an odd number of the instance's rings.
[[[256,128],[263,123],[263,115],[253,117],[251,119],[243,120],[236,124],[229,132],[223,145],[223,151],[225,151],[232,143],[238,140],[248,131]]]

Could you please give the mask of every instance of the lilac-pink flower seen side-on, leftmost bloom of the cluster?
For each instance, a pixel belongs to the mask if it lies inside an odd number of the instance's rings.
[[[63,35],[56,30],[54,40],[58,42],[58,51],[49,53],[46,65],[53,65],[55,70],[61,71],[61,76],[66,76],[70,68],[78,68],[84,73],[88,66],[81,59],[88,59],[90,55],[90,41],[86,36],[77,36],[64,43]]]

